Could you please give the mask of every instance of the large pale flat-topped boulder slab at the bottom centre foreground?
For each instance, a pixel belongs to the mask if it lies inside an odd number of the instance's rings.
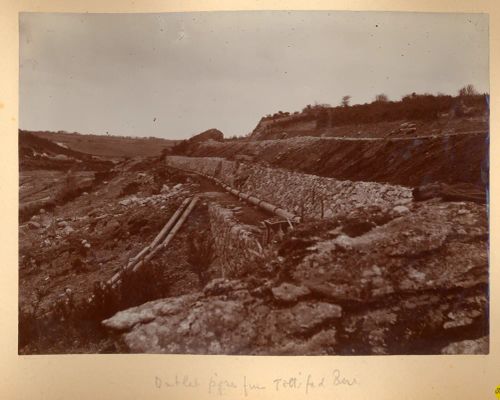
[[[225,294],[214,295],[210,289],[210,295],[156,300],[120,311],[102,324],[121,332],[132,352],[289,354],[302,350],[318,354],[327,350],[320,349],[321,344],[335,343],[330,325],[342,314],[339,306],[307,302],[291,309],[271,309],[242,289],[244,282],[226,284]],[[321,326],[327,329],[316,332]]]

